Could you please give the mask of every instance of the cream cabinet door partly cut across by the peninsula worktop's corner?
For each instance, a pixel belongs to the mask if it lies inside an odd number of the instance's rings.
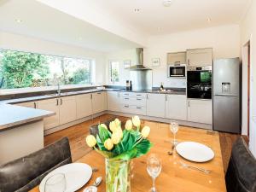
[[[47,99],[38,101],[38,108],[55,112],[55,115],[44,118],[44,130],[60,125],[59,99]]]

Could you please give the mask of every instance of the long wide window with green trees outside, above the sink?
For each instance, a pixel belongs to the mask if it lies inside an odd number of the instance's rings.
[[[90,83],[90,60],[0,49],[2,89]]]

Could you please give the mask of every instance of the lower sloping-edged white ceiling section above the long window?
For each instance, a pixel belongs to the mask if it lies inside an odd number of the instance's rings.
[[[140,46],[35,0],[0,0],[0,30],[102,52]]]

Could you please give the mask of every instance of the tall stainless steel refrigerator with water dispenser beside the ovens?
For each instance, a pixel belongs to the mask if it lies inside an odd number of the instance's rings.
[[[239,58],[213,61],[213,130],[241,132]]]

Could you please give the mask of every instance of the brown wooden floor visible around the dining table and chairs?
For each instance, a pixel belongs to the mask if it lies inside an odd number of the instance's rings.
[[[70,142],[70,148],[72,153],[72,158],[74,160],[78,160],[84,154],[87,154],[91,149],[86,145],[85,143],[85,137],[90,134],[90,125],[96,125],[99,122],[103,122],[108,119],[113,119],[115,116],[110,114],[102,115],[96,119],[88,120],[84,123],[81,123],[79,125],[74,125],[72,127],[69,127],[65,130],[55,132],[53,134],[50,134],[48,136],[44,137],[44,145],[47,146],[50,143],[54,143],[56,140],[61,139],[61,137],[68,137]],[[125,117],[119,117],[120,120],[126,120],[128,118]],[[144,124],[147,120],[143,120]],[[150,125],[152,125],[153,122],[150,122]],[[165,123],[160,122],[154,122],[155,126],[161,126],[166,125]],[[224,171],[226,171],[229,160],[230,160],[230,152],[233,143],[236,141],[236,138],[239,137],[239,135],[236,134],[230,134],[230,133],[219,133],[219,141],[221,145],[222,150],[222,156],[223,156],[223,162],[224,162]]]

